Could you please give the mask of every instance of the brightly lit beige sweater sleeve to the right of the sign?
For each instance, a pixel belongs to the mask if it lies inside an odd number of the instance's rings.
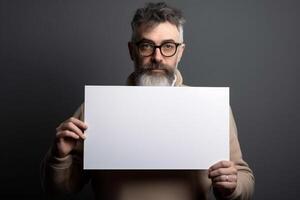
[[[254,176],[248,164],[242,158],[242,152],[238,141],[236,123],[230,110],[230,160],[237,166],[237,187],[235,191],[225,199],[250,200],[254,191]]]

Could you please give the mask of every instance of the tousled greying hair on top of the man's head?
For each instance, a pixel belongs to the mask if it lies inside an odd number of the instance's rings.
[[[136,31],[141,25],[153,27],[162,22],[175,25],[180,34],[180,42],[183,42],[183,24],[185,19],[182,12],[176,8],[169,7],[164,2],[147,3],[145,7],[136,10],[131,21],[131,41],[136,41]]]

